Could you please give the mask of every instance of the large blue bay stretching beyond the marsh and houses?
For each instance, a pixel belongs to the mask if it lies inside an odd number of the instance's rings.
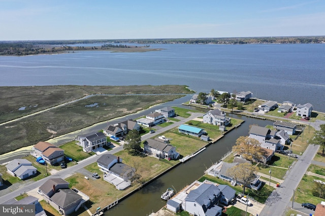
[[[185,84],[197,92],[313,104],[325,112],[325,45],[150,45],[157,52],[84,51],[0,57],[0,86]]]

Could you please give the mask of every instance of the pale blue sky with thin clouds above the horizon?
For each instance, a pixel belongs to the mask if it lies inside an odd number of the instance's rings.
[[[0,40],[317,35],[323,0],[0,0]]]

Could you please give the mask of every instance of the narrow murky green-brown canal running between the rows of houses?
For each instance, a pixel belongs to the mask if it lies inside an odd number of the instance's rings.
[[[187,107],[188,108],[188,107]],[[230,114],[230,117],[241,118],[245,122],[225,135],[220,141],[210,145],[206,150],[189,161],[175,167],[167,174],[151,182],[133,195],[127,197],[114,208],[105,212],[106,215],[149,215],[166,205],[166,201],[160,199],[160,195],[167,188],[181,190],[195,180],[198,180],[204,171],[222,158],[224,154],[232,149],[240,136],[248,136],[249,125],[258,124],[266,126],[273,121],[248,118],[245,116]]]

